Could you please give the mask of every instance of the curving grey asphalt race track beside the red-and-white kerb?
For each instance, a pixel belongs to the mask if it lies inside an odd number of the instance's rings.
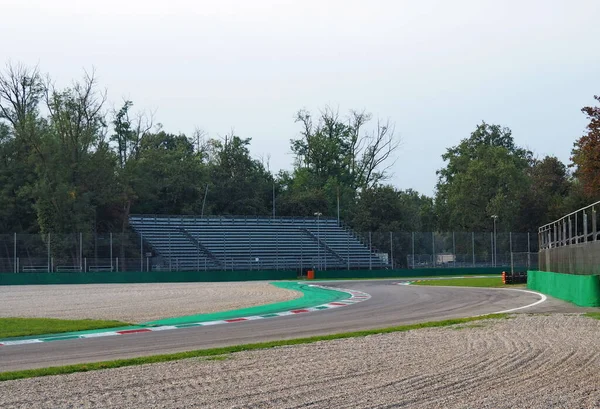
[[[397,280],[327,283],[330,287],[365,291],[372,297],[355,305],[296,316],[0,347],[0,371],[106,361],[468,317],[518,308],[540,300],[537,294],[517,290],[393,285],[395,282]]]

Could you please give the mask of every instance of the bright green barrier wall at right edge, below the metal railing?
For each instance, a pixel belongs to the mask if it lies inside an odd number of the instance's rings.
[[[600,275],[528,271],[527,288],[581,307],[600,307]]]

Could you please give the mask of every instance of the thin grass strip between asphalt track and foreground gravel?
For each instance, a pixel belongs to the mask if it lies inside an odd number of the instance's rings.
[[[321,335],[308,338],[296,338],[283,341],[260,342],[256,344],[236,345],[222,348],[201,349],[189,352],[179,352],[174,354],[153,355],[140,358],[117,359],[115,361],[94,362],[87,364],[76,364],[67,366],[55,366],[51,368],[27,369],[23,371],[0,372],[0,382],[23,378],[34,378],[39,376],[63,375],[74,372],[97,371],[100,369],[120,368],[124,366],[153,364],[159,362],[176,361],[186,358],[197,357],[215,357],[216,360],[223,360],[228,354],[241,351],[253,351],[257,349],[269,349],[275,347],[311,344],[318,341],[331,341],[335,339],[364,337],[375,334],[388,334],[391,332],[410,331],[421,328],[436,328],[446,327],[449,325],[464,324],[473,321],[481,321],[485,319],[502,319],[507,318],[508,314],[491,314],[480,317],[456,318],[444,321],[424,322],[420,324],[401,325],[396,327],[380,328],[365,331],[345,332],[341,334]],[[218,357],[218,358],[217,358]]]

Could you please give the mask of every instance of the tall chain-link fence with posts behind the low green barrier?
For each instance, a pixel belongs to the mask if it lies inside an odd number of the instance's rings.
[[[281,251],[283,244],[265,247],[264,238],[248,235],[245,246],[265,254],[274,262],[252,257],[242,267],[248,270],[295,269],[416,269],[443,267],[506,267],[536,269],[538,236],[529,233],[466,232],[367,232],[353,233],[370,249],[367,261],[356,266],[351,240],[334,242],[327,233],[317,240],[320,251],[298,243],[291,259]],[[189,271],[239,269],[225,250],[235,237],[222,238],[222,256],[210,254],[200,244],[190,250],[177,242],[157,250],[136,233],[108,234],[3,234],[0,235],[0,272],[110,272],[110,271]],[[247,241],[247,243],[246,243]],[[276,241],[277,242],[277,241]],[[189,243],[188,243],[189,244]],[[307,243],[304,243],[307,244]],[[314,242],[312,242],[314,246]],[[353,247],[354,246],[354,247]],[[247,251],[247,250],[246,250]],[[368,254],[368,253],[367,253]],[[262,263],[262,264],[261,264]]]

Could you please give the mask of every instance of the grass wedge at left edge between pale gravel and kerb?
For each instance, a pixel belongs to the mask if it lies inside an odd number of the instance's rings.
[[[58,334],[130,325],[120,321],[60,320],[56,318],[0,318],[0,339]]]

